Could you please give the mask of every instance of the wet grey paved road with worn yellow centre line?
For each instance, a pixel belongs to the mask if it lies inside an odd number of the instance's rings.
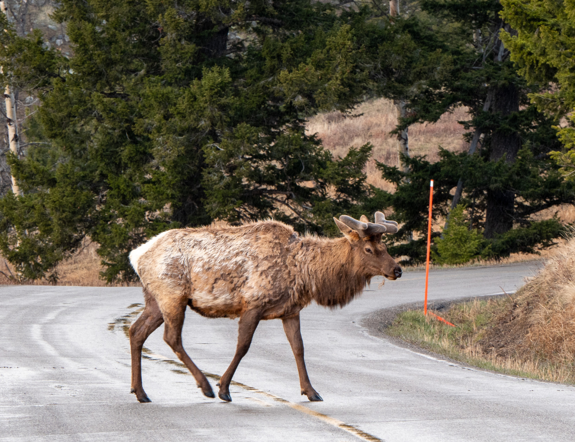
[[[515,290],[536,267],[434,271],[430,299]],[[299,395],[280,321],[260,324],[231,403],[205,398],[156,330],[143,362],[153,402],[140,404],[124,333],[140,289],[0,287],[0,441],[575,440],[575,388],[469,370],[370,336],[361,318],[419,301],[424,274],[378,282],[343,310],[302,312],[310,378],[324,398],[313,403]],[[236,325],[187,314],[184,344],[202,370],[223,373]]]

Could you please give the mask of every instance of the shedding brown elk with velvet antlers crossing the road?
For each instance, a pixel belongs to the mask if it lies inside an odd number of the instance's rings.
[[[162,323],[164,341],[194,376],[197,386],[214,397],[206,376],[182,345],[186,307],[209,318],[237,318],[237,348],[220,378],[218,397],[231,401],[229,383],[250,348],[261,320],[279,318],[296,358],[301,394],[323,401],[309,381],[300,333],[300,310],[315,301],[343,307],[360,294],[370,279],[401,277],[401,267],[381,242],[396,233],[397,222],[375,212],[375,223],[364,215],[333,218],[343,237],[300,236],[278,221],[258,221],[238,227],[173,229],[134,249],[129,257],[140,276],[145,307],[129,329],[132,389],[140,402],[150,402],[141,379],[144,341]]]

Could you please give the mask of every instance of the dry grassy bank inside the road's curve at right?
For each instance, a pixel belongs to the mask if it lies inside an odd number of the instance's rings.
[[[575,237],[515,295],[453,305],[442,316],[457,327],[411,311],[389,333],[489,370],[575,383]]]

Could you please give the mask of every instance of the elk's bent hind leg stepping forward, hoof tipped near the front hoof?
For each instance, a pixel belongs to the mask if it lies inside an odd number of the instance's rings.
[[[182,326],[186,315],[186,307],[187,300],[175,312],[171,314],[164,312],[164,321],[166,321],[166,325],[164,325],[164,341],[170,345],[179,360],[190,370],[194,379],[196,379],[197,386],[202,389],[202,393],[209,398],[214,398],[216,395],[214,395],[208,379],[190,359],[182,345]]]

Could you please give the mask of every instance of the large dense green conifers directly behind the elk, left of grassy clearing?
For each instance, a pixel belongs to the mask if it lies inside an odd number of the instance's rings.
[[[2,36],[3,80],[39,94],[9,162],[24,195],[0,201],[0,248],[24,278],[85,236],[105,278],[167,228],[275,217],[323,232],[370,196],[369,145],[334,159],[303,122],[365,88],[348,17],[309,0],[63,0],[74,54]],[[9,26],[4,23],[6,28]]]

